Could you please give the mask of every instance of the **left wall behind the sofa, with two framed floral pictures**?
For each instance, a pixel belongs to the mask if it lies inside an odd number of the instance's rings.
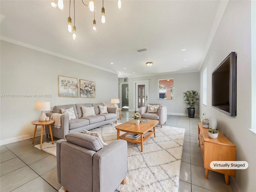
[[[50,98],[1,97],[1,144],[32,137],[33,120],[41,112],[34,110],[36,101],[55,105],[74,103],[110,104],[118,97],[118,75],[84,64],[52,56],[1,40],[1,94],[51,94]],[[96,82],[96,98],[58,96],[58,75]],[[78,94],[79,95],[79,94]],[[115,96],[114,96],[115,95]],[[39,128],[40,129],[40,128]],[[38,129],[38,131],[40,131]]]

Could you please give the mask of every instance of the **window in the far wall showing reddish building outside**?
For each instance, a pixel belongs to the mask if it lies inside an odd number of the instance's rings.
[[[174,79],[158,80],[158,99],[174,98]]]

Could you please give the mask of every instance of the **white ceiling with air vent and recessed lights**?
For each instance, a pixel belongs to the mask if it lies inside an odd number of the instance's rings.
[[[102,24],[102,1],[95,0],[94,31],[93,13],[76,0],[73,40],[67,30],[69,1],[64,0],[64,11],[50,2],[1,0],[1,39],[114,72],[119,78],[199,71],[222,5],[217,0],[122,0],[119,10],[117,0],[105,0]],[[73,0],[70,17],[73,25]],[[148,51],[135,51],[141,48]]]

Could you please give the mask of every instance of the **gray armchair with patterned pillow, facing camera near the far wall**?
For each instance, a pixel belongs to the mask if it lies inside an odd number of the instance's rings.
[[[158,124],[161,125],[162,127],[163,124],[165,124],[167,121],[167,107],[162,106],[161,104],[150,104],[150,105],[159,105],[158,112],[149,112],[148,106],[145,106],[145,107],[139,108],[138,113],[142,118],[158,120],[159,121]]]

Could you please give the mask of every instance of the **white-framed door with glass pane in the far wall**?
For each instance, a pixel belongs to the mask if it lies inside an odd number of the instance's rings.
[[[146,106],[148,104],[148,81],[135,83],[135,108]]]

